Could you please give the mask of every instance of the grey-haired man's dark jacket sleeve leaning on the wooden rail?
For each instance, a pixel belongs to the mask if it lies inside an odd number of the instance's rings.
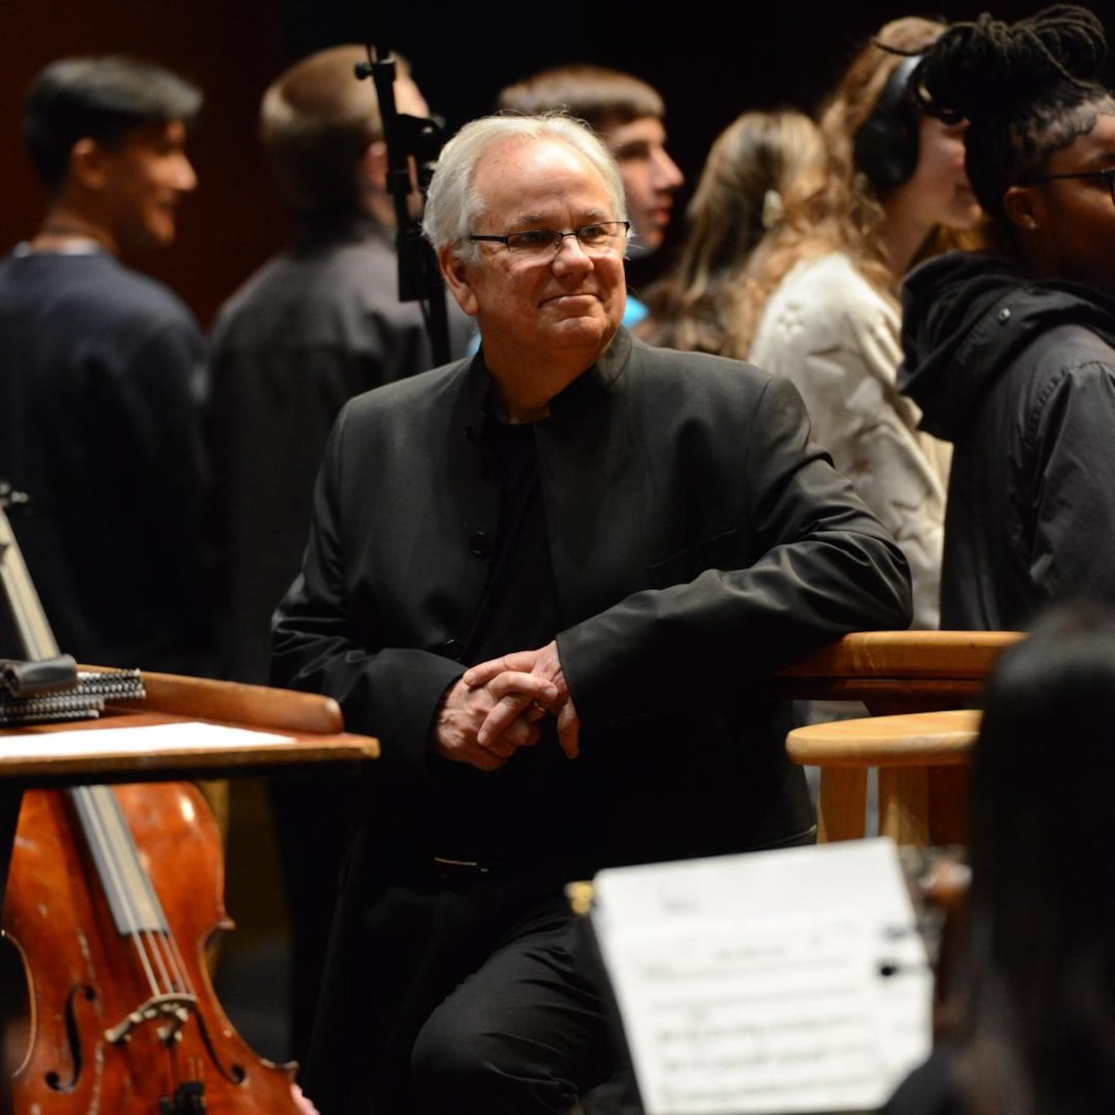
[[[797,391],[772,378],[740,432],[757,560],[637,592],[558,637],[582,720],[729,707],[842,634],[909,626],[902,551],[808,433]]]

